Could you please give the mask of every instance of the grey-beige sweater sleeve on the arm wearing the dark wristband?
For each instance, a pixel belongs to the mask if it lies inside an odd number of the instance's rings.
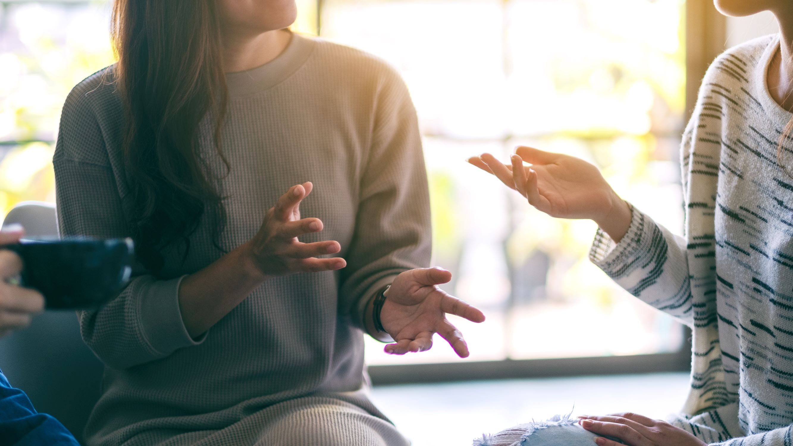
[[[362,324],[368,299],[431,254],[430,205],[419,124],[407,86],[386,71],[377,91],[374,133],[363,170],[339,311]]]

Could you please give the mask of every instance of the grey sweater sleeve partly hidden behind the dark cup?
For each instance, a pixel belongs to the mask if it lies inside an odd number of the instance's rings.
[[[63,236],[125,238],[129,231],[117,176],[86,96],[75,87],[63,107],[53,157],[59,231]],[[120,295],[98,310],[79,311],[83,340],[106,365],[119,369],[196,345],[182,322],[180,281],[159,280],[136,265]]]

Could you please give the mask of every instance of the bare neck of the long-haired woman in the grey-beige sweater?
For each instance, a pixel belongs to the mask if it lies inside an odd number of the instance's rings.
[[[292,33],[285,29],[253,35],[242,32],[224,32],[224,71],[235,73],[261,67],[278,57],[289,45],[291,39]]]

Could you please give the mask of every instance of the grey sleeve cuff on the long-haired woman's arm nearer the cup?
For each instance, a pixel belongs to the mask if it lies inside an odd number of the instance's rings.
[[[149,347],[158,355],[167,356],[177,349],[199,345],[206,333],[190,337],[179,309],[179,285],[185,276],[155,280],[142,290],[140,327]]]

